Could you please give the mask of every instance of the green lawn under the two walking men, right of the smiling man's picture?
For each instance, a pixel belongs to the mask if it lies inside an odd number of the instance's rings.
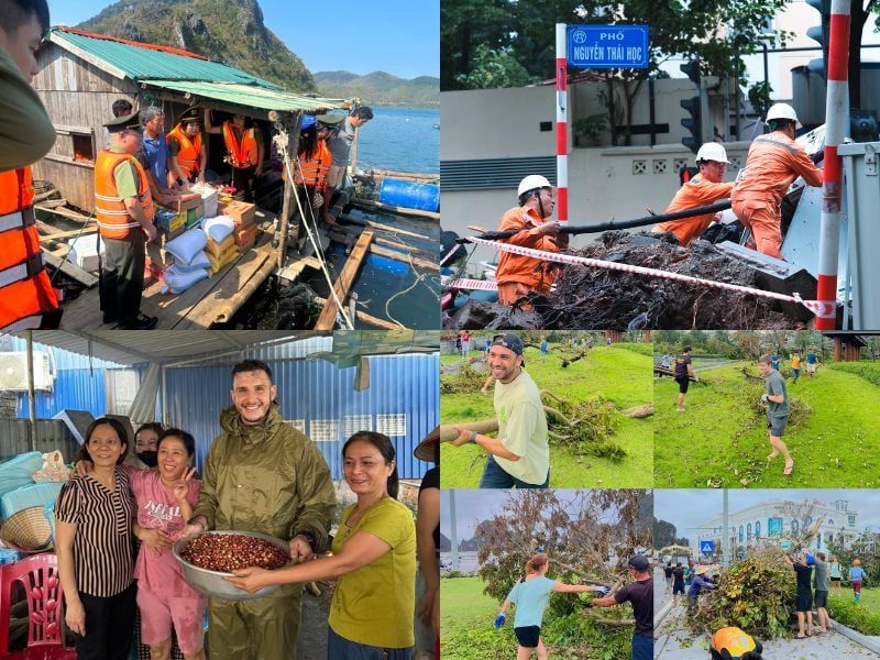
[[[790,420],[783,440],[795,461],[782,475],[781,458],[768,462],[763,385],[747,381],[740,362],[698,372],[686,411],[675,411],[678,384],[654,381],[654,477],[658,487],[877,487],[880,485],[880,387],[854,374],[822,369],[787,381],[792,402],[810,408]],[[745,480],[745,483],[743,483]]]

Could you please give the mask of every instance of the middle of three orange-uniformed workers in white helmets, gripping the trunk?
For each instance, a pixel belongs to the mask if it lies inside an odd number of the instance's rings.
[[[734,184],[722,183],[729,163],[727,152],[721,144],[706,142],[696,152],[696,165],[700,167],[700,174],[679,188],[666,212],[674,213],[684,209],[693,209],[730,197],[730,189]],[[693,218],[670,220],[654,224],[651,231],[670,231],[675,234],[681,245],[686,246],[691,241],[700,238],[700,234],[712,224],[714,219],[715,213],[705,213]]]

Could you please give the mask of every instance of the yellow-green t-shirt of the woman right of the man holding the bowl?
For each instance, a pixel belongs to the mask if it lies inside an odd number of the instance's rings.
[[[416,607],[416,524],[403,504],[386,497],[366,512],[354,526],[348,526],[354,512],[342,514],[333,553],[359,531],[378,537],[391,550],[373,563],[339,579],[330,604],[329,624],[333,631],[350,641],[389,649],[416,644],[413,613]]]

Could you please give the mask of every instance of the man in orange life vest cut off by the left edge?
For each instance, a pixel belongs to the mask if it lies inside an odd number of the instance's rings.
[[[34,227],[31,163],[55,142],[29,80],[48,30],[45,0],[0,0],[0,332],[55,328],[61,310]]]

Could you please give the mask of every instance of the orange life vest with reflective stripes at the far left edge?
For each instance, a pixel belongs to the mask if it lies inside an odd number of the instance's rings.
[[[31,167],[0,174],[0,332],[38,328],[58,309],[34,226]]]

